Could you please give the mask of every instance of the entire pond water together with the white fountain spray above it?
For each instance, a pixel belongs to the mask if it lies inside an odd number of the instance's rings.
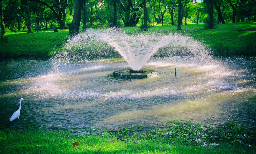
[[[85,132],[94,113],[94,129],[154,129],[192,118],[208,126],[255,123],[256,57],[213,58],[209,51],[188,35],[89,29],[55,49],[51,60],[0,63],[0,116],[6,117],[0,125],[13,125],[8,118],[21,97],[28,101],[14,124],[36,121],[48,130]],[[141,68],[158,74],[142,80],[113,74]]]

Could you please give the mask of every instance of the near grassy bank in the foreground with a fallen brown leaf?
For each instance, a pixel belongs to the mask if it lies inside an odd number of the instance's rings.
[[[227,123],[217,129],[175,121],[149,131],[140,126],[97,133],[0,130],[0,153],[255,154],[255,126]],[[90,129],[92,130],[92,129]],[[79,143],[73,147],[73,143]]]

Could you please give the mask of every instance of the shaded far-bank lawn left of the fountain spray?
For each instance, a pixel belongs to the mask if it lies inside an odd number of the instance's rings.
[[[58,30],[53,33],[53,29],[42,30],[36,33],[27,31],[7,31],[4,37],[8,37],[8,44],[0,44],[1,58],[15,57],[35,57],[48,58],[52,55],[53,49],[62,45],[69,36],[68,29]]]

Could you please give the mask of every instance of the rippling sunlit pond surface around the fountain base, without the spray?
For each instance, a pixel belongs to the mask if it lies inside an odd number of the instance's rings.
[[[255,124],[256,57],[232,56],[205,63],[197,56],[151,58],[148,79],[117,80],[128,68],[117,59],[84,61],[52,72],[52,62],[32,59],[0,63],[1,125],[48,129],[88,129],[142,125],[156,128],[168,120],[216,126],[234,121]],[[177,76],[175,77],[175,68]],[[50,72],[50,73],[49,73]],[[23,97],[21,116],[9,122]]]

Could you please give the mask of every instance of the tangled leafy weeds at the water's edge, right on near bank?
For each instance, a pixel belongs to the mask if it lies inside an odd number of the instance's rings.
[[[191,122],[172,121],[166,124],[162,134],[170,142],[185,145],[207,145],[207,144],[237,144],[244,146],[255,146],[256,127],[248,125],[226,123],[217,128],[206,128],[201,124],[191,125]]]

